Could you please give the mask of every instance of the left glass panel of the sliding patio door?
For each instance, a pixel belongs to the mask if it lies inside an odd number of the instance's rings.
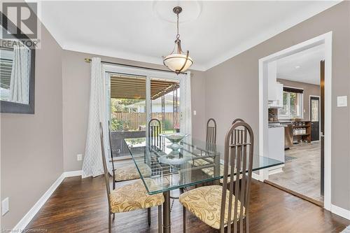
[[[141,153],[146,146],[146,77],[110,76],[110,122],[113,157]]]

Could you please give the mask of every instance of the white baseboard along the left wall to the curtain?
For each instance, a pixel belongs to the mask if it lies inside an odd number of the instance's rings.
[[[30,223],[30,221],[34,218],[36,213],[40,211],[41,207],[45,204],[45,202],[49,199],[49,197],[52,195],[53,192],[55,192],[56,188],[62,183],[64,178],[71,177],[71,176],[81,176],[81,170],[80,171],[66,171],[62,173],[59,178],[51,185],[51,187],[43,194],[43,196],[38,199],[38,202],[34,204],[33,207],[26,213],[26,215],[18,222],[15,227],[13,227],[12,232],[23,232],[25,230],[25,227]]]

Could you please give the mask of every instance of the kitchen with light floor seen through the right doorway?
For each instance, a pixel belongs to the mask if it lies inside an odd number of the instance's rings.
[[[284,164],[269,169],[265,183],[318,205],[323,204],[320,123],[322,49],[305,50],[294,57],[267,64],[267,155]]]

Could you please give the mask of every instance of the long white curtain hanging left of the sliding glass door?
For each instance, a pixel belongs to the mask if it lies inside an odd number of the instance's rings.
[[[91,61],[91,87],[89,120],[87,122],[87,137],[85,145],[85,156],[83,161],[82,178],[88,176],[99,176],[104,173],[101,156],[101,141],[99,136],[99,122],[104,129],[104,145],[107,167],[111,173],[109,164],[109,138],[108,122],[106,120],[108,110],[106,106],[105,76],[102,73],[101,58],[92,57]]]

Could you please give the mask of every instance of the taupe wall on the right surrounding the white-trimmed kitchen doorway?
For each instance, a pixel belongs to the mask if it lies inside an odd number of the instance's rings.
[[[339,3],[205,73],[206,117],[218,122],[219,143],[230,122],[243,118],[253,127],[258,152],[258,59],[332,31],[332,204],[348,210],[349,107],[337,108],[336,101],[337,96],[349,96],[349,15],[349,1]]]

